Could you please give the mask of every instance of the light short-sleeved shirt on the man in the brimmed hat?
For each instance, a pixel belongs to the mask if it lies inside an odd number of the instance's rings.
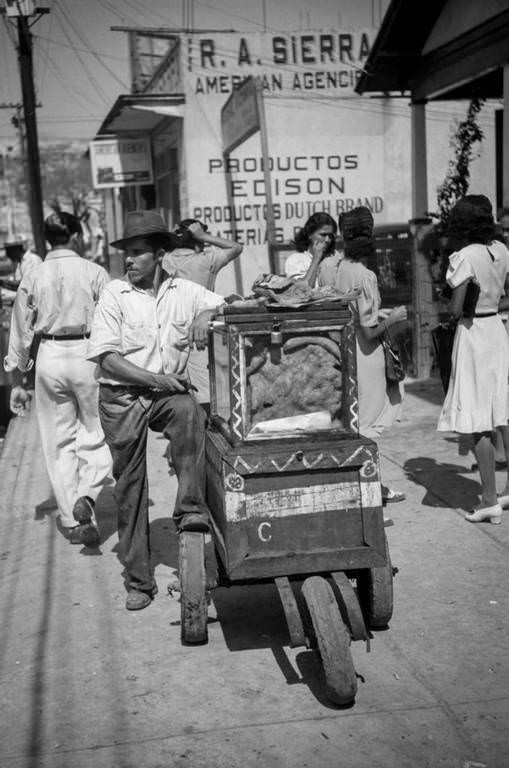
[[[118,352],[151,373],[183,374],[191,323],[200,312],[222,304],[217,293],[178,277],[165,280],[157,296],[128,277],[112,280],[97,305],[87,357],[99,363],[105,352]],[[102,384],[123,383],[105,376],[100,366],[97,377]]]

